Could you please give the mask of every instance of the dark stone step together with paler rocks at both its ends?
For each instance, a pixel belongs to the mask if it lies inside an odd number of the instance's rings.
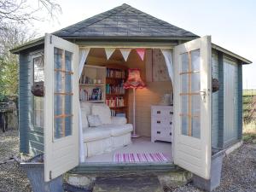
[[[190,181],[192,174],[183,169],[176,172],[134,172],[108,174],[67,173],[65,183],[93,191],[162,191],[175,189]],[[168,191],[168,190],[167,190]]]

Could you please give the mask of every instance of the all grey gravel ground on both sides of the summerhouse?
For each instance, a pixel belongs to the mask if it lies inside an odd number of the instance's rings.
[[[0,163],[19,154],[18,131],[0,131]],[[0,165],[0,192],[30,192],[26,172],[15,160]],[[200,192],[191,183],[173,192]],[[256,192],[256,144],[246,143],[224,157],[220,186],[214,192]],[[171,191],[170,191],[171,192]]]

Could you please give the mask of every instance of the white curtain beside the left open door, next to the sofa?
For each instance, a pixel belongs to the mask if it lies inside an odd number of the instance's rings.
[[[79,50],[79,77],[81,77],[84,69],[86,58],[89,54],[90,48],[82,48]],[[79,160],[84,162],[85,150],[84,150],[84,138],[83,138],[83,125],[82,125],[82,112],[79,102]]]

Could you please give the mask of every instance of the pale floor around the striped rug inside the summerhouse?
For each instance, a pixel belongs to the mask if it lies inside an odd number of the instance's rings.
[[[130,145],[118,148],[106,154],[99,154],[86,159],[86,162],[107,163],[113,162],[115,153],[164,153],[172,162],[172,143],[155,142],[151,143],[150,137],[133,138]]]

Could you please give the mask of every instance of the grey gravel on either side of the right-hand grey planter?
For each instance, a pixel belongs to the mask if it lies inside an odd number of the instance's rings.
[[[174,192],[199,192],[191,183]],[[220,186],[214,192],[256,191],[256,144],[246,143],[224,157]]]

